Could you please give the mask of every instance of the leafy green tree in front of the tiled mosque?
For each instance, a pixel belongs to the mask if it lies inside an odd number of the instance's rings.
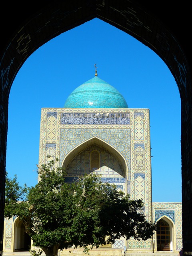
[[[130,200],[100,176],[90,174],[65,182],[55,162],[38,168],[38,184],[18,186],[6,178],[5,216],[19,216],[26,232],[46,256],[69,246],[88,248],[127,239],[146,240],[156,226],[146,220],[142,200]],[[19,203],[18,203],[19,201]]]

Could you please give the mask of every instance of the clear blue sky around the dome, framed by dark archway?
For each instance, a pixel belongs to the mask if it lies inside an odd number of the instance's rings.
[[[181,202],[180,95],[150,48],[99,19],[69,30],[34,52],[10,91],[6,170],[20,185],[37,183],[41,108],[62,108],[94,77],[114,86],[129,108],[150,109],[152,201]]]

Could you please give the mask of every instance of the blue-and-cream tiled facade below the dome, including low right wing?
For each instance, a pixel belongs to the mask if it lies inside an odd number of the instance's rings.
[[[90,155],[97,150],[100,168],[91,170]],[[148,220],[172,223],[170,249],[182,247],[181,203],[153,203],[151,199],[150,116],[148,109],[42,108],[39,163],[46,156],[60,159],[66,180],[95,172],[116,184],[131,199],[144,201]],[[124,241],[124,242],[122,242]],[[156,250],[156,235],[147,241],[117,240],[127,250]]]

